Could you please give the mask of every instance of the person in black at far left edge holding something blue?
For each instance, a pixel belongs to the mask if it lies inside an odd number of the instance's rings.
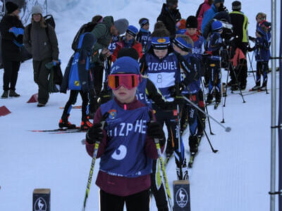
[[[4,65],[3,89],[1,98],[20,96],[16,93],[18,70],[20,69],[20,47],[23,46],[23,23],[18,14],[20,9],[11,1],[6,3],[7,14],[0,23],[1,51]],[[10,90],[10,92],[9,92]]]

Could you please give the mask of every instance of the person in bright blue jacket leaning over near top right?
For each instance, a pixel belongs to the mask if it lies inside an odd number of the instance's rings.
[[[204,13],[204,17],[202,20],[202,28],[201,28],[202,32],[204,31],[204,27],[207,25],[209,20],[212,20],[212,18],[214,18],[214,15],[216,15],[216,13],[226,10],[226,7],[223,6],[223,4],[224,4],[224,0],[214,0],[214,4],[212,4],[211,8],[209,8],[209,10],[207,10]]]

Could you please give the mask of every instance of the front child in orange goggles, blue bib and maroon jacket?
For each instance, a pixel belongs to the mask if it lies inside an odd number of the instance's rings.
[[[87,153],[92,156],[95,141],[101,141],[101,158],[96,184],[100,188],[100,210],[149,211],[152,162],[158,158],[155,138],[164,144],[164,132],[157,122],[150,122],[152,110],[135,97],[141,80],[136,60],[118,58],[111,68],[108,84],[114,99],[102,104],[94,125],[86,135]],[[106,127],[99,122],[104,113]]]

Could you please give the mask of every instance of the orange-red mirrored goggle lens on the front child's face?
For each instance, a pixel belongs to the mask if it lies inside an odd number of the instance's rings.
[[[140,75],[136,74],[113,74],[108,76],[108,85],[111,89],[119,89],[121,86],[126,89],[133,89],[141,82]]]

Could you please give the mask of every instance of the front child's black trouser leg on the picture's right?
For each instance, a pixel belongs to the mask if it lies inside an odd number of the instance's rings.
[[[149,211],[149,189],[125,197],[127,211]]]

